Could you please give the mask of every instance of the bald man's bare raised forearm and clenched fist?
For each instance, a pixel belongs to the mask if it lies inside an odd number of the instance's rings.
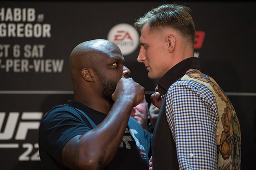
[[[112,98],[115,102],[102,123],[65,144],[62,161],[66,167],[74,170],[101,170],[112,161],[122,141],[132,108],[144,98],[144,88],[132,79],[122,78]]]

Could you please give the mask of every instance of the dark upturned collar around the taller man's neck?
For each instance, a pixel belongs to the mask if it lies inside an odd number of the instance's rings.
[[[191,68],[195,68],[200,70],[199,59],[196,57],[190,57],[184,59],[183,61],[177,63],[173,66],[166,74],[163,75],[158,81],[158,91],[160,96],[163,98],[166,92],[168,91],[169,87],[177,81],[180,77],[183,77]]]

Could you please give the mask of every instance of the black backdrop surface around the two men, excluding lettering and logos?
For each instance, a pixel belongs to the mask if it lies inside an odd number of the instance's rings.
[[[16,139],[19,126],[38,123],[40,119],[22,117],[24,112],[46,113],[55,105],[73,99],[68,59],[73,48],[81,42],[93,39],[107,39],[109,30],[119,23],[133,25],[151,8],[163,3],[174,3],[192,9],[197,31],[204,31],[205,38],[200,54],[201,70],[213,77],[226,92],[236,109],[241,126],[241,170],[256,167],[256,51],[255,26],[256,3],[247,1],[0,1],[0,8],[35,8],[36,14],[44,14],[41,24],[51,25],[50,38],[0,37],[0,44],[43,44],[41,59],[63,59],[59,73],[36,73],[29,71],[6,72],[0,68],[0,135],[5,132],[10,113],[18,113],[11,139],[0,136],[0,169],[38,170],[40,161],[33,161],[37,154],[38,130],[30,128],[26,139]],[[0,23],[27,23],[0,21]],[[33,22],[40,23],[40,22]],[[147,77],[144,64],[137,62],[140,47],[125,57],[125,65],[131,70],[133,79],[146,90],[150,102],[157,80]],[[1,49],[0,49],[1,51]],[[9,56],[0,57],[2,64]],[[24,59],[22,55],[18,59]],[[33,59],[29,59],[32,62]],[[1,116],[2,115],[2,116]],[[5,116],[3,116],[5,115]],[[1,126],[2,122],[2,126]],[[11,123],[10,123],[11,124]],[[25,129],[24,129],[25,130]],[[17,148],[3,148],[1,144],[18,144]],[[24,154],[28,160],[19,161]]]

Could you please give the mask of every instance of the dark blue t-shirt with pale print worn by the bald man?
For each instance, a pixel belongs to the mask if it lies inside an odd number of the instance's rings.
[[[44,169],[65,170],[61,153],[74,136],[81,135],[101,123],[107,115],[77,101],[52,108],[39,127],[39,153]],[[148,170],[152,135],[130,117],[116,156],[105,170]]]

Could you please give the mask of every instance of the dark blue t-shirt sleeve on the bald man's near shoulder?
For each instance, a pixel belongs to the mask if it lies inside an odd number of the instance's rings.
[[[74,136],[91,129],[90,120],[79,111],[65,107],[54,108],[41,121],[39,143],[41,149],[63,165],[61,153],[64,145]]]

